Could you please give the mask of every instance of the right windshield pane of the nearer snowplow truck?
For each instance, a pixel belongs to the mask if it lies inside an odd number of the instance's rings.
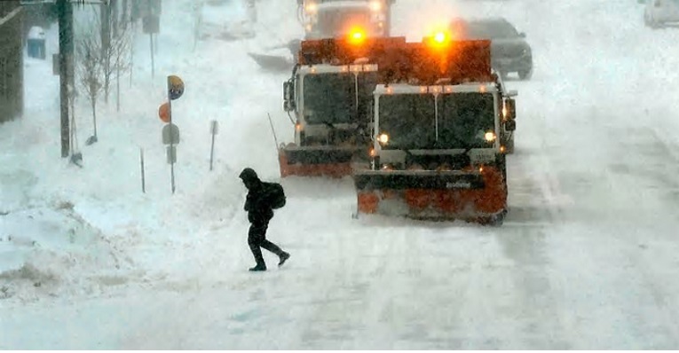
[[[438,96],[436,147],[485,148],[486,132],[495,131],[493,93],[447,93]]]

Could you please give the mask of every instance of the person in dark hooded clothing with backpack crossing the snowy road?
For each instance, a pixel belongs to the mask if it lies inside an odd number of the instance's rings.
[[[278,255],[280,267],[288,261],[290,255],[266,239],[266,230],[273,217],[273,208],[281,208],[285,205],[283,188],[280,184],[261,181],[255,170],[250,168],[243,169],[240,177],[245,187],[248,188],[248,197],[243,208],[248,212],[250,222],[248,245],[257,263],[250,271],[266,271],[262,248]]]

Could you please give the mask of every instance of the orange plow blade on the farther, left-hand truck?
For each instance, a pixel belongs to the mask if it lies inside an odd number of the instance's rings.
[[[356,148],[284,147],[279,149],[280,176],[351,175],[351,161],[359,153]]]

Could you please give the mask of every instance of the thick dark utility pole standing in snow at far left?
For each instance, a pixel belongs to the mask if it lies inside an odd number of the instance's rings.
[[[73,5],[69,0],[57,0],[59,13],[59,100],[61,113],[61,157],[67,158],[71,141],[68,123],[68,85],[75,82],[73,77]]]

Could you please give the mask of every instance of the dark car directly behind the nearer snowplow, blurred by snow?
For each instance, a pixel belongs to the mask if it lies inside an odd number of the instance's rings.
[[[504,18],[455,19],[451,23],[454,35],[461,39],[489,39],[491,65],[503,77],[516,72],[521,80],[533,75],[533,52],[518,32]]]

